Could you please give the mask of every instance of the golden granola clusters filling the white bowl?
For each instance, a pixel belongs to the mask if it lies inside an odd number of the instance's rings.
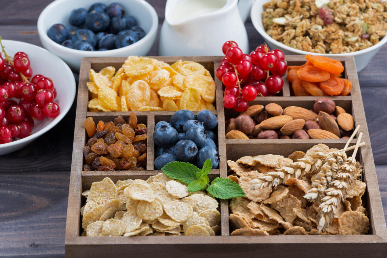
[[[313,53],[363,50],[378,43],[387,29],[387,1],[382,0],[271,0],[263,7],[269,36]]]

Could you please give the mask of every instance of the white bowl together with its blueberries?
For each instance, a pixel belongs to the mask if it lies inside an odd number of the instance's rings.
[[[145,56],[157,28],[156,11],[144,0],[55,0],[38,19],[43,47],[74,70],[84,57]]]

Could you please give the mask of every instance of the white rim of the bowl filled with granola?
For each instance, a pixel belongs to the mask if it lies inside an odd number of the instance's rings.
[[[270,43],[272,43],[272,44],[274,44],[274,45],[276,45],[276,46],[278,46],[280,48],[283,48],[284,50],[293,52],[293,53],[298,53],[298,54],[302,54],[302,55],[312,54],[312,55],[321,55],[321,56],[357,56],[357,55],[361,55],[361,54],[365,54],[365,53],[371,52],[372,50],[377,50],[378,48],[381,48],[387,42],[387,35],[386,35],[386,36],[384,36],[384,38],[382,40],[380,40],[375,45],[370,46],[369,48],[365,48],[363,50],[358,50],[358,51],[349,52],[349,53],[340,53],[340,54],[327,54],[327,53],[321,53],[320,54],[320,53],[314,53],[314,52],[308,52],[308,51],[304,51],[304,50],[299,50],[299,49],[296,49],[296,48],[291,48],[291,47],[286,46],[285,44],[283,44],[281,42],[278,42],[275,39],[273,39],[263,29],[262,18],[260,18],[261,14],[258,13],[258,8],[257,8],[257,6],[258,5],[262,5],[263,2],[264,1],[257,0],[257,1],[255,1],[255,3],[253,4],[253,6],[251,8],[250,17],[251,17],[251,21],[253,23],[253,26],[255,27],[255,29],[258,31],[258,33],[266,41],[269,41]],[[262,28],[259,25],[262,25]]]

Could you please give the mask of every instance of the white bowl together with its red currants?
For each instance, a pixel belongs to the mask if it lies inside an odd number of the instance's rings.
[[[75,98],[75,79],[63,60],[43,48],[13,40],[1,43],[4,49],[0,58],[0,155],[3,155],[30,144],[62,120]]]

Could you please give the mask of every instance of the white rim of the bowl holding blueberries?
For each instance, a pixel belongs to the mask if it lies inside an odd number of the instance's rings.
[[[158,19],[158,15],[156,13],[156,10],[154,10],[152,5],[150,5],[145,0],[131,0],[132,2],[138,2],[138,3],[142,4],[147,10],[149,10],[149,12],[151,14],[151,17],[152,17],[151,29],[144,36],[144,38],[140,39],[136,43],[133,43],[129,46],[125,46],[123,48],[116,48],[116,49],[112,49],[112,50],[105,50],[105,51],[84,51],[84,50],[75,50],[72,48],[67,48],[65,46],[62,46],[61,44],[56,43],[52,39],[48,38],[47,33],[43,28],[44,19],[45,19],[46,14],[48,12],[50,12],[51,9],[55,8],[55,5],[57,5],[57,3],[62,3],[62,2],[66,2],[66,1],[68,1],[68,0],[55,0],[55,1],[51,2],[49,5],[47,5],[45,7],[45,9],[43,9],[43,11],[39,14],[38,23],[37,23],[38,34],[39,34],[39,37],[41,38],[41,40],[46,41],[52,47],[57,48],[57,50],[61,50],[61,51],[71,53],[71,54],[76,54],[76,55],[80,55],[81,53],[84,53],[84,54],[86,54],[86,55],[83,55],[85,57],[99,57],[99,55],[106,56],[106,53],[108,53],[111,56],[119,55],[120,53],[122,53],[122,51],[130,50],[131,48],[135,48],[136,46],[139,46],[140,44],[142,44],[144,42],[144,41],[142,41],[143,39],[151,39],[152,35],[157,33],[159,19]],[[140,42],[140,41],[142,41],[142,42]],[[101,54],[98,54],[98,53],[101,53]]]

